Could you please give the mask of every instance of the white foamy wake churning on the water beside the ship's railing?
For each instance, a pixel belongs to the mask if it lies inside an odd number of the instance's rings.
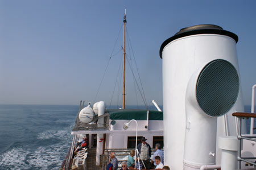
[[[68,130],[46,131],[38,139],[59,138],[56,144],[36,148],[15,147],[0,155],[0,169],[58,169],[72,142]]]

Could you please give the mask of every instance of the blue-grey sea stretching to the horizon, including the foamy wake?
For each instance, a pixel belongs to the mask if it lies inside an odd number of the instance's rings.
[[[78,110],[77,105],[0,105],[0,169],[59,169]],[[250,119],[246,125],[249,130]]]

